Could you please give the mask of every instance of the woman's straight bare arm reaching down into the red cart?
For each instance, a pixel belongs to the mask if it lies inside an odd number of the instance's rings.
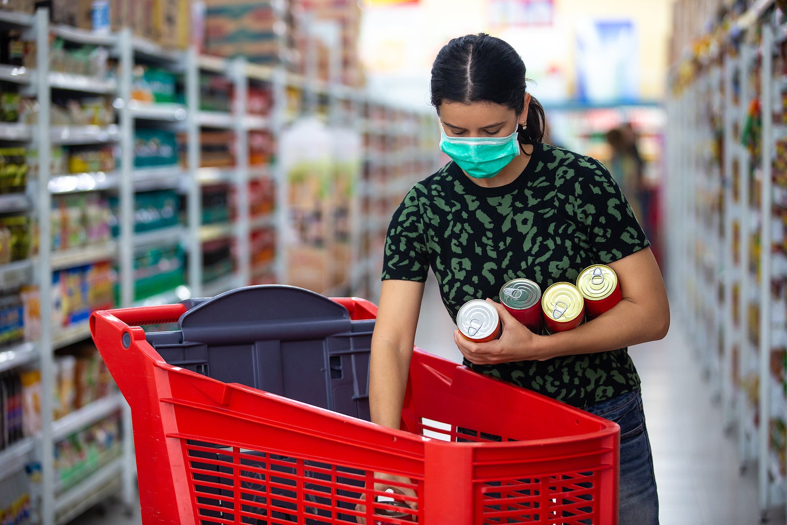
[[[423,283],[386,280],[371,336],[369,407],[371,420],[399,428],[407,375],[423,298]]]

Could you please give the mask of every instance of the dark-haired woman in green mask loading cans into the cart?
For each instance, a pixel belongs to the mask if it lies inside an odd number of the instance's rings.
[[[477,372],[619,423],[620,523],[658,523],[640,381],[626,347],[666,335],[667,294],[607,169],[542,143],[544,111],[525,87],[522,59],[489,35],[453,39],[434,61],[431,102],[441,149],[453,161],[412,187],[391,220],[371,342],[371,420],[399,427],[430,268],[456,320],[465,301],[492,301],[509,279],[545,290],[590,264],[608,264],[623,301],[575,330],[534,334],[493,302],[501,337],[476,344],[455,331],[454,341]]]

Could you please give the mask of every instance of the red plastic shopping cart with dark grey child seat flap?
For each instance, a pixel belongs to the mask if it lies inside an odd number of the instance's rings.
[[[142,522],[617,523],[608,420],[420,349],[404,430],[364,420],[375,314],[278,285],[95,312],[131,406]],[[409,479],[397,485],[417,508],[381,521],[401,510],[376,499],[390,495],[375,489],[382,474]]]

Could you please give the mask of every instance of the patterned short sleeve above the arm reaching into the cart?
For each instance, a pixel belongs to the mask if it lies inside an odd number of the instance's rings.
[[[423,214],[418,192],[413,187],[391,217],[382,257],[382,280],[425,282],[429,275],[429,255],[424,243]]]

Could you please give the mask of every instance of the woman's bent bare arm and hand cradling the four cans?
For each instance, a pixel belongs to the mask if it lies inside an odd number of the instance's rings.
[[[504,324],[501,338],[471,343],[454,333],[456,346],[475,364],[596,353],[654,341],[667,335],[670,309],[661,272],[649,248],[609,264],[618,275],[623,300],[608,312],[574,330],[549,336],[535,335],[497,305]]]

